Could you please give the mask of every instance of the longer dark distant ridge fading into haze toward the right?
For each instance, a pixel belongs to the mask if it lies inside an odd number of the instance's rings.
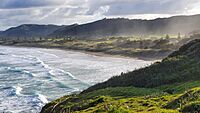
[[[155,20],[103,19],[71,28],[58,29],[53,36],[95,38],[105,36],[130,36],[149,34],[188,34],[200,29],[200,15],[174,16]]]

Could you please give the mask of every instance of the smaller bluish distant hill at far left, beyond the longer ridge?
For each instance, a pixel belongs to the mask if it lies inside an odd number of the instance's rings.
[[[6,37],[6,38],[45,37],[50,33],[56,31],[57,29],[63,27],[64,26],[57,26],[57,25],[24,24],[0,32],[0,37]]]

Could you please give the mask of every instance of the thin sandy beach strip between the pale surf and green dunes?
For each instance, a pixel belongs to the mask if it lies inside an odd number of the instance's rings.
[[[27,45],[25,44],[0,44],[0,46],[10,46],[10,47],[28,47],[28,48],[44,48],[44,49],[59,49],[64,51],[74,51],[74,52],[80,52],[85,53],[88,55],[94,55],[94,56],[102,56],[102,57],[114,57],[114,58],[127,58],[127,59],[137,59],[137,60],[144,60],[144,61],[161,61],[165,57],[144,57],[144,56],[129,56],[129,55],[123,55],[123,54],[111,54],[111,53],[105,53],[105,52],[97,52],[97,51],[88,51],[85,49],[72,49],[64,46],[46,46],[46,45]]]

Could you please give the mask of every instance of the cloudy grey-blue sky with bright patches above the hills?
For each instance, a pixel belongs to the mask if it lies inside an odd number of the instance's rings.
[[[0,30],[21,24],[83,24],[200,13],[200,0],[0,0]]]

